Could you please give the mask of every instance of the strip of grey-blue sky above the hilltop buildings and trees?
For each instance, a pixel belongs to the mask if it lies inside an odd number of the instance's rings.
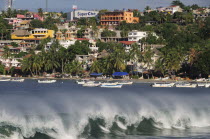
[[[0,0],[0,7],[3,8],[3,1]],[[14,8],[36,10],[45,8],[46,0],[15,0]],[[139,9],[144,10],[146,6],[156,8],[168,6],[173,0],[48,0],[50,11],[71,11],[73,4],[78,9],[100,10],[100,9]],[[198,4],[199,6],[210,6],[210,0],[181,0],[185,5]]]

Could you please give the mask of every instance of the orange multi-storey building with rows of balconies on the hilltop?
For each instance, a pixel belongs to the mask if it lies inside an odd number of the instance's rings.
[[[133,12],[114,11],[101,15],[101,25],[119,25],[120,22],[139,23],[139,17],[133,17]]]

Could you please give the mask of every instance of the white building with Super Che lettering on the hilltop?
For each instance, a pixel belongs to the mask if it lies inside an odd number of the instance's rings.
[[[67,14],[67,20],[73,21],[74,19],[97,17],[99,11],[86,11],[76,10]]]

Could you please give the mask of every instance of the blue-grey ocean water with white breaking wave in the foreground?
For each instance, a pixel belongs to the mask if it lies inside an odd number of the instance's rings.
[[[0,82],[0,139],[210,138],[210,89]]]

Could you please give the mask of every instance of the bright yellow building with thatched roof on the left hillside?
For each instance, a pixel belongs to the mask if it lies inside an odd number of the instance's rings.
[[[31,31],[16,30],[11,34],[13,40],[41,40],[48,37],[54,38],[54,30],[36,28]]]

